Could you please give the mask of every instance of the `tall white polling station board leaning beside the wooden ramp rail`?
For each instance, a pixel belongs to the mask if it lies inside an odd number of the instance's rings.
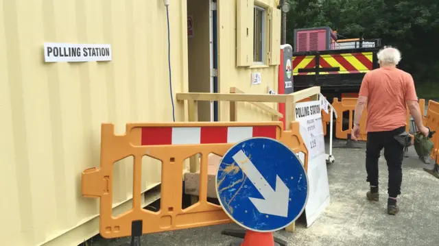
[[[309,197],[305,207],[307,227],[316,221],[330,202],[321,103],[320,100],[296,103],[296,121],[300,124],[300,135],[309,152]],[[298,157],[305,161],[304,156]]]

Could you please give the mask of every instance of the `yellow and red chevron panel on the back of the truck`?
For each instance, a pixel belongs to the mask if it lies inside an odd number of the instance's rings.
[[[336,53],[318,55],[320,69],[340,69],[339,71],[321,71],[319,74],[367,73],[373,69],[372,52]],[[293,57],[293,75],[315,75],[316,72],[300,72],[299,69],[316,67],[316,56]]]

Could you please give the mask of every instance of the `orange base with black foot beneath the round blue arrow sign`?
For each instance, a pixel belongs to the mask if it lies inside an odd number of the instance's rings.
[[[253,232],[250,230],[226,229],[223,235],[242,238],[230,243],[230,246],[287,246],[287,241],[273,236],[272,232]]]

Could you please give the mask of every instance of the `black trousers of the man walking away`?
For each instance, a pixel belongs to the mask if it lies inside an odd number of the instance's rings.
[[[378,186],[378,159],[381,149],[384,149],[384,158],[387,161],[389,174],[389,197],[401,195],[404,147],[394,136],[404,131],[405,125],[392,131],[368,132],[368,140],[366,143],[366,171],[368,175],[366,181],[368,181],[371,186]]]

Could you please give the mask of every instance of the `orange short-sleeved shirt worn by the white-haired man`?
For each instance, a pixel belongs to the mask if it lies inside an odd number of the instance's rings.
[[[412,75],[392,67],[366,73],[359,95],[368,97],[366,132],[390,131],[406,125],[405,101],[418,101]]]

